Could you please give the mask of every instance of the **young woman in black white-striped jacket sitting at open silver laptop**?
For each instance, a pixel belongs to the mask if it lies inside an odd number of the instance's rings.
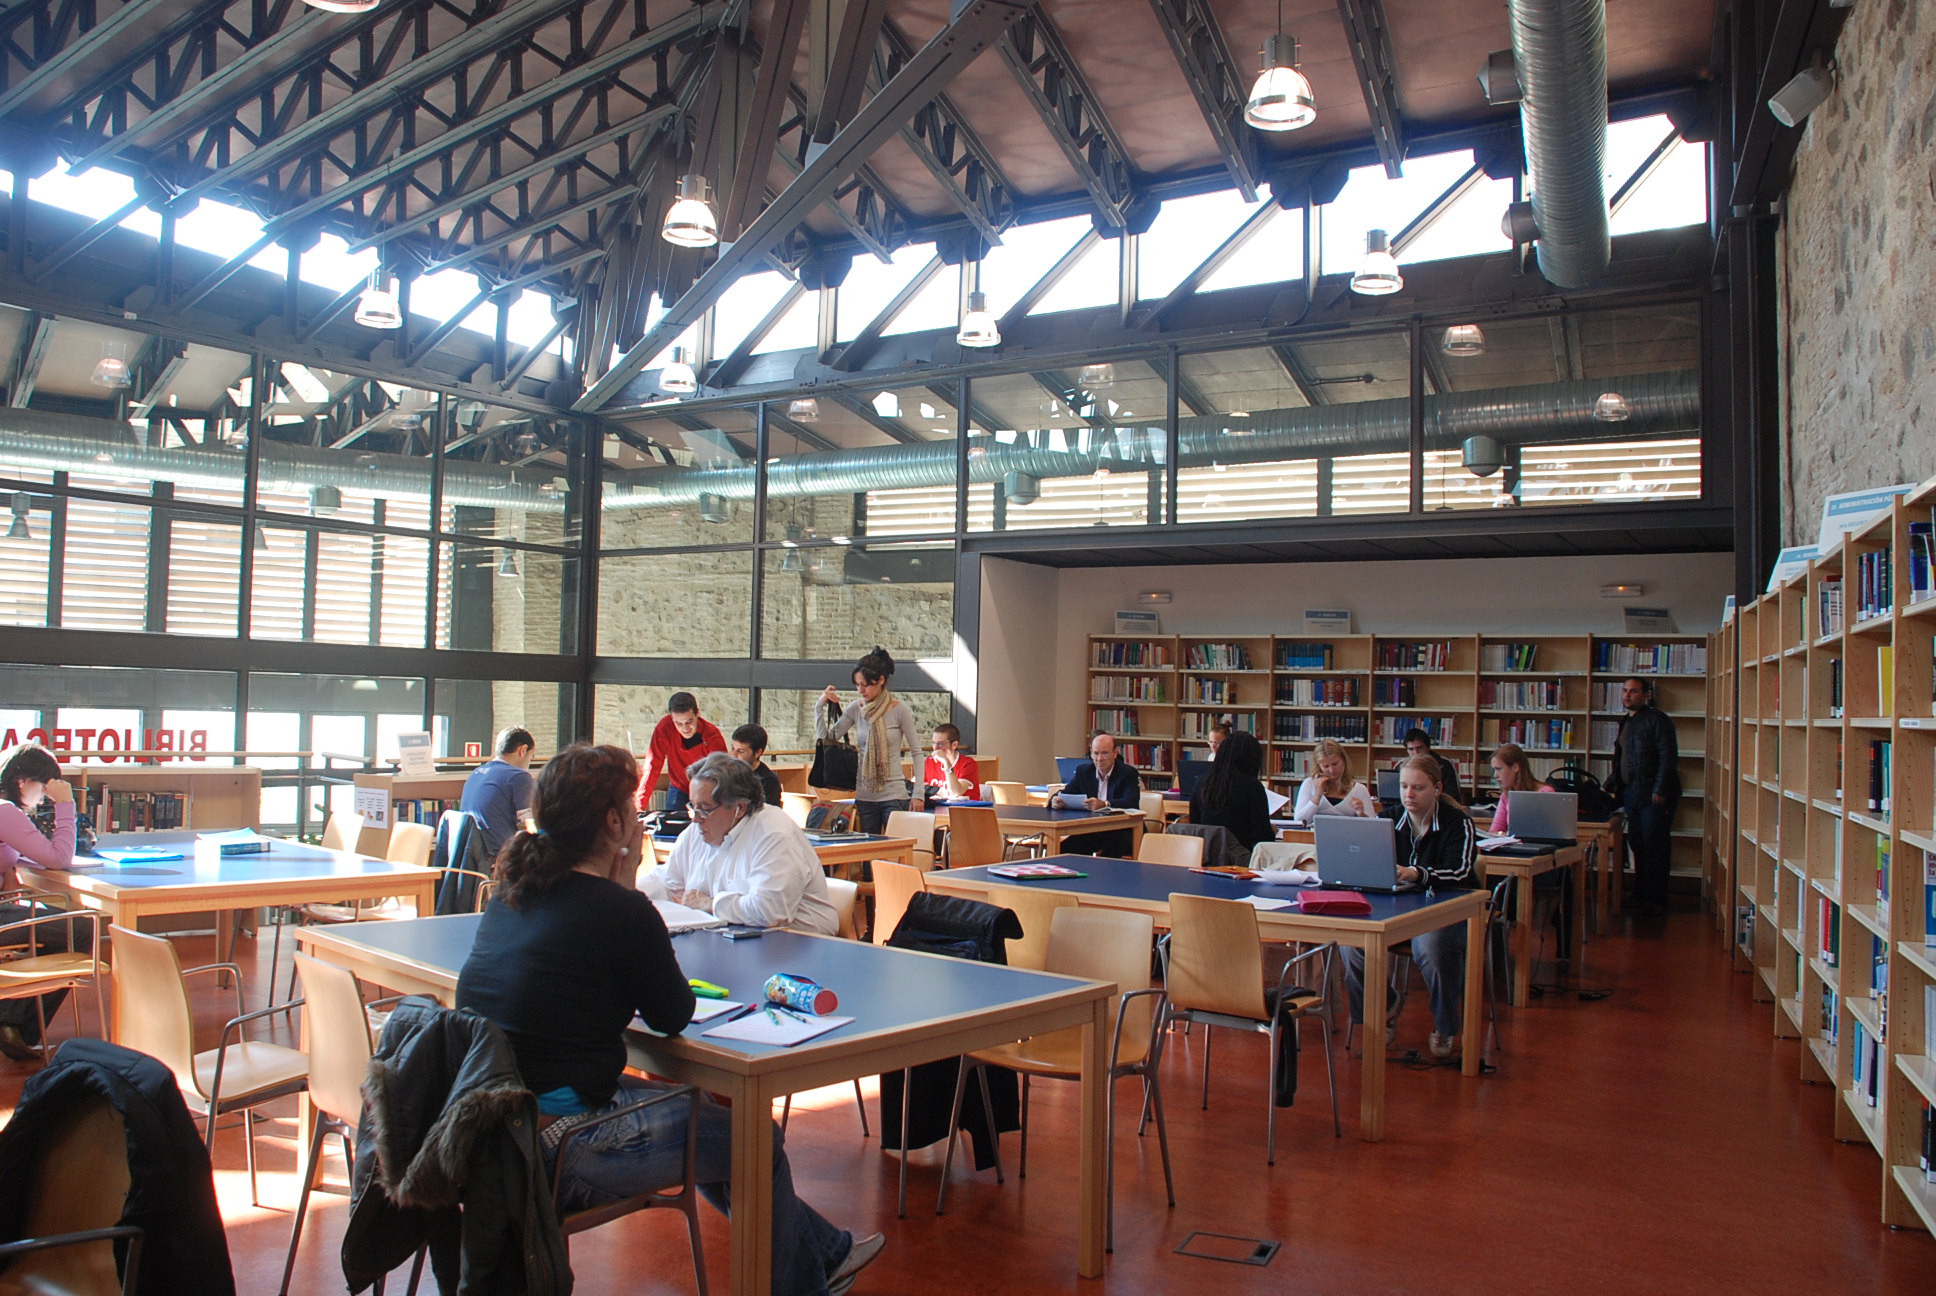
[[[1433,891],[1479,885],[1479,835],[1446,794],[1437,756],[1407,756],[1398,767],[1400,804],[1386,812],[1398,823],[1398,879]],[[1450,1058],[1460,1027],[1460,990],[1466,978],[1466,924],[1411,938],[1411,961],[1419,965],[1433,1003],[1435,1058]],[[1365,1021],[1365,953],[1344,951],[1344,980],[1351,996],[1351,1021]],[[1386,1027],[1392,1042],[1396,1027]]]

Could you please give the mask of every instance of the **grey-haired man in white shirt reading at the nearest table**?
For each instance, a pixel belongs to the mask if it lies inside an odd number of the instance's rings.
[[[745,926],[840,930],[813,843],[765,804],[751,765],[724,754],[693,765],[689,810],[691,825],[666,862],[639,878],[641,891]]]

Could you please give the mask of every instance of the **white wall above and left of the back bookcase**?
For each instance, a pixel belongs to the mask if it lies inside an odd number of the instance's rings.
[[[1632,602],[1669,608],[1682,633],[1721,624],[1731,554],[1303,562],[1195,568],[1030,568],[982,564],[982,752],[1003,775],[1036,781],[1057,754],[1084,748],[1088,635],[1117,608],[1167,589],[1164,633],[1297,633],[1305,608],[1349,608],[1357,633],[1618,633],[1618,599],[1601,585],[1646,585]]]

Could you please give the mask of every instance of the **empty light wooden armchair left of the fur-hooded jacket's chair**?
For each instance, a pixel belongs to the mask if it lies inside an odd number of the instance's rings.
[[[215,1151],[215,1118],[242,1112],[250,1201],[261,1205],[256,1191],[256,1106],[308,1089],[310,1060],[294,1048],[242,1038],[242,1027],[300,1007],[302,1000],[244,1013],[242,969],[234,963],[184,969],[174,945],[161,936],[124,926],[110,926],[108,934],[114,940],[114,1042],[174,1071],[188,1110],[207,1116],[203,1137],[209,1153]],[[228,972],[236,992],[236,1015],[223,1025],[221,1044],[203,1052],[196,1052],[196,1017],[184,980],[199,972]]]

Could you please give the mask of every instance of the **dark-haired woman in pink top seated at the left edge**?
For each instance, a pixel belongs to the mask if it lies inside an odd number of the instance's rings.
[[[45,837],[33,825],[41,800],[54,806],[54,835]],[[19,887],[15,868],[25,860],[35,868],[74,868],[74,788],[60,777],[60,761],[37,742],[23,742],[0,757],[0,889]],[[60,912],[29,901],[0,903],[0,924],[21,922]],[[33,928],[41,953],[62,953],[72,940],[87,941],[87,928],[50,922]],[[10,932],[10,938],[23,938]],[[68,998],[66,990],[33,1000],[0,1000],[0,1054],[14,1062],[37,1062],[33,1044],[41,1040],[41,1023],[50,1021]]]

